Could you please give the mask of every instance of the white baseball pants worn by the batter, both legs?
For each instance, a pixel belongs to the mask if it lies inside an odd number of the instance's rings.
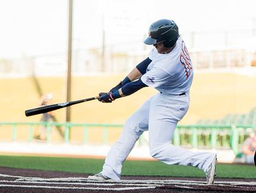
[[[189,108],[189,96],[156,94],[148,99],[124,124],[118,141],[109,150],[102,174],[120,180],[122,164],[144,131],[148,131],[150,155],[166,164],[194,166],[206,171],[213,153],[191,152],[171,144],[177,122]]]

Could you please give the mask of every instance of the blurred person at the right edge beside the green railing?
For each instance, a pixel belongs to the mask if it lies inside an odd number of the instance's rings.
[[[242,152],[245,157],[245,162],[253,164],[254,154],[256,150],[256,128],[249,138],[246,138],[243,143]]]

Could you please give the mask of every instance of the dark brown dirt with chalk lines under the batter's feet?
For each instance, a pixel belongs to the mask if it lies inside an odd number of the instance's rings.
[[[86,174],[0,167],[0,192],[256,192],[255,179],[123,176],[120,182],[95,182]]]

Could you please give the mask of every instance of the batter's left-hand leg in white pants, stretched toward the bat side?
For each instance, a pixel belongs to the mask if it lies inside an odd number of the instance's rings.
[[[124,124],[122,134],[111,147],[102,169],[102,175],[113,180],[120,180],[122,164],[131,152],[143,131],[148,130],[148,115],[151,98],[139,110],[131,115]]]

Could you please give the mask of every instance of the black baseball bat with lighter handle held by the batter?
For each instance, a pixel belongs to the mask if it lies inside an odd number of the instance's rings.
[[[90,97],[88,99],[81,99],[81,100],[77,100],[77,101],[70,101],[70,102],[65,102],[65,103],[49,104],[49,105],[45,105],[45,106],[40,106],[38,108],[32,108],[32,109],[26,110],[25,115],[26,115],[26,117],[29,117],[32,115],[47,113],[49,111],[58,110],[60,108],[65,108],[67,106],[71,106],[71,105],[78,104],[78,103],[84,103],[86,101],[92,101],[92,100],[98,99],[98,98],[99,98],[99,96],[96,96],[96,97]]]

